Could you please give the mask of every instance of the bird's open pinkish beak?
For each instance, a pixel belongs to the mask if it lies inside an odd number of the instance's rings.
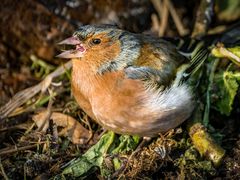
[[[67,38],[67,39],[59,42],[58,44],[59,45],[74,45],[75,46],[75,49],[63,51],[61,54],[56,56],[56,57],[59,57],[59,58],[66,58],[66,59],[81,58],[81,57],[83,57],[83,55],[86,51],[86,48],[84,47],[82,42],[76,37]]]

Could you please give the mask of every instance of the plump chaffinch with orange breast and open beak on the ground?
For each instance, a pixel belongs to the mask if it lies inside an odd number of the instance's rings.
[[[105,129],[155,137],[191,116],[196,98],[184,77],[206,53],[193,60],[170,41],[113,25],[80,26],[59,45],[70,48],[58,57],[72,61],[73,96]]]

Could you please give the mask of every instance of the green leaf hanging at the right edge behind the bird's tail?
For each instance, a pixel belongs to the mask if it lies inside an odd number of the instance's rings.
[[[225,71],[216,74],[215,82],[218,87],[215,101],[216,109],[222,114],[230,115],[232,104],[237,94],[240,81],[240,72]]]

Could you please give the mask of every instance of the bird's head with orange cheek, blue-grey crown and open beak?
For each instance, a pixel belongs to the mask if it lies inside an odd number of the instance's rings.
[[[69,45],[71,49],[57,57],[86,61],[98,67],[99,73],[127,66],[139,52],[134,34],[112,25],[81,26],[59,44]]]

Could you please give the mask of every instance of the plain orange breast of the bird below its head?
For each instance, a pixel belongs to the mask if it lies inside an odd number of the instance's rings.
[[[78,104],[105,128],[129,133],[124,130],[128,128],[126,124],[142,116],[139,112],[145,91],[142,82],[126,79],[122,71],[97,76],[90,71],[82,73],[88,67],[79,60],[73,63],[78,67],[73,66],[72,72],[72,90]]]

